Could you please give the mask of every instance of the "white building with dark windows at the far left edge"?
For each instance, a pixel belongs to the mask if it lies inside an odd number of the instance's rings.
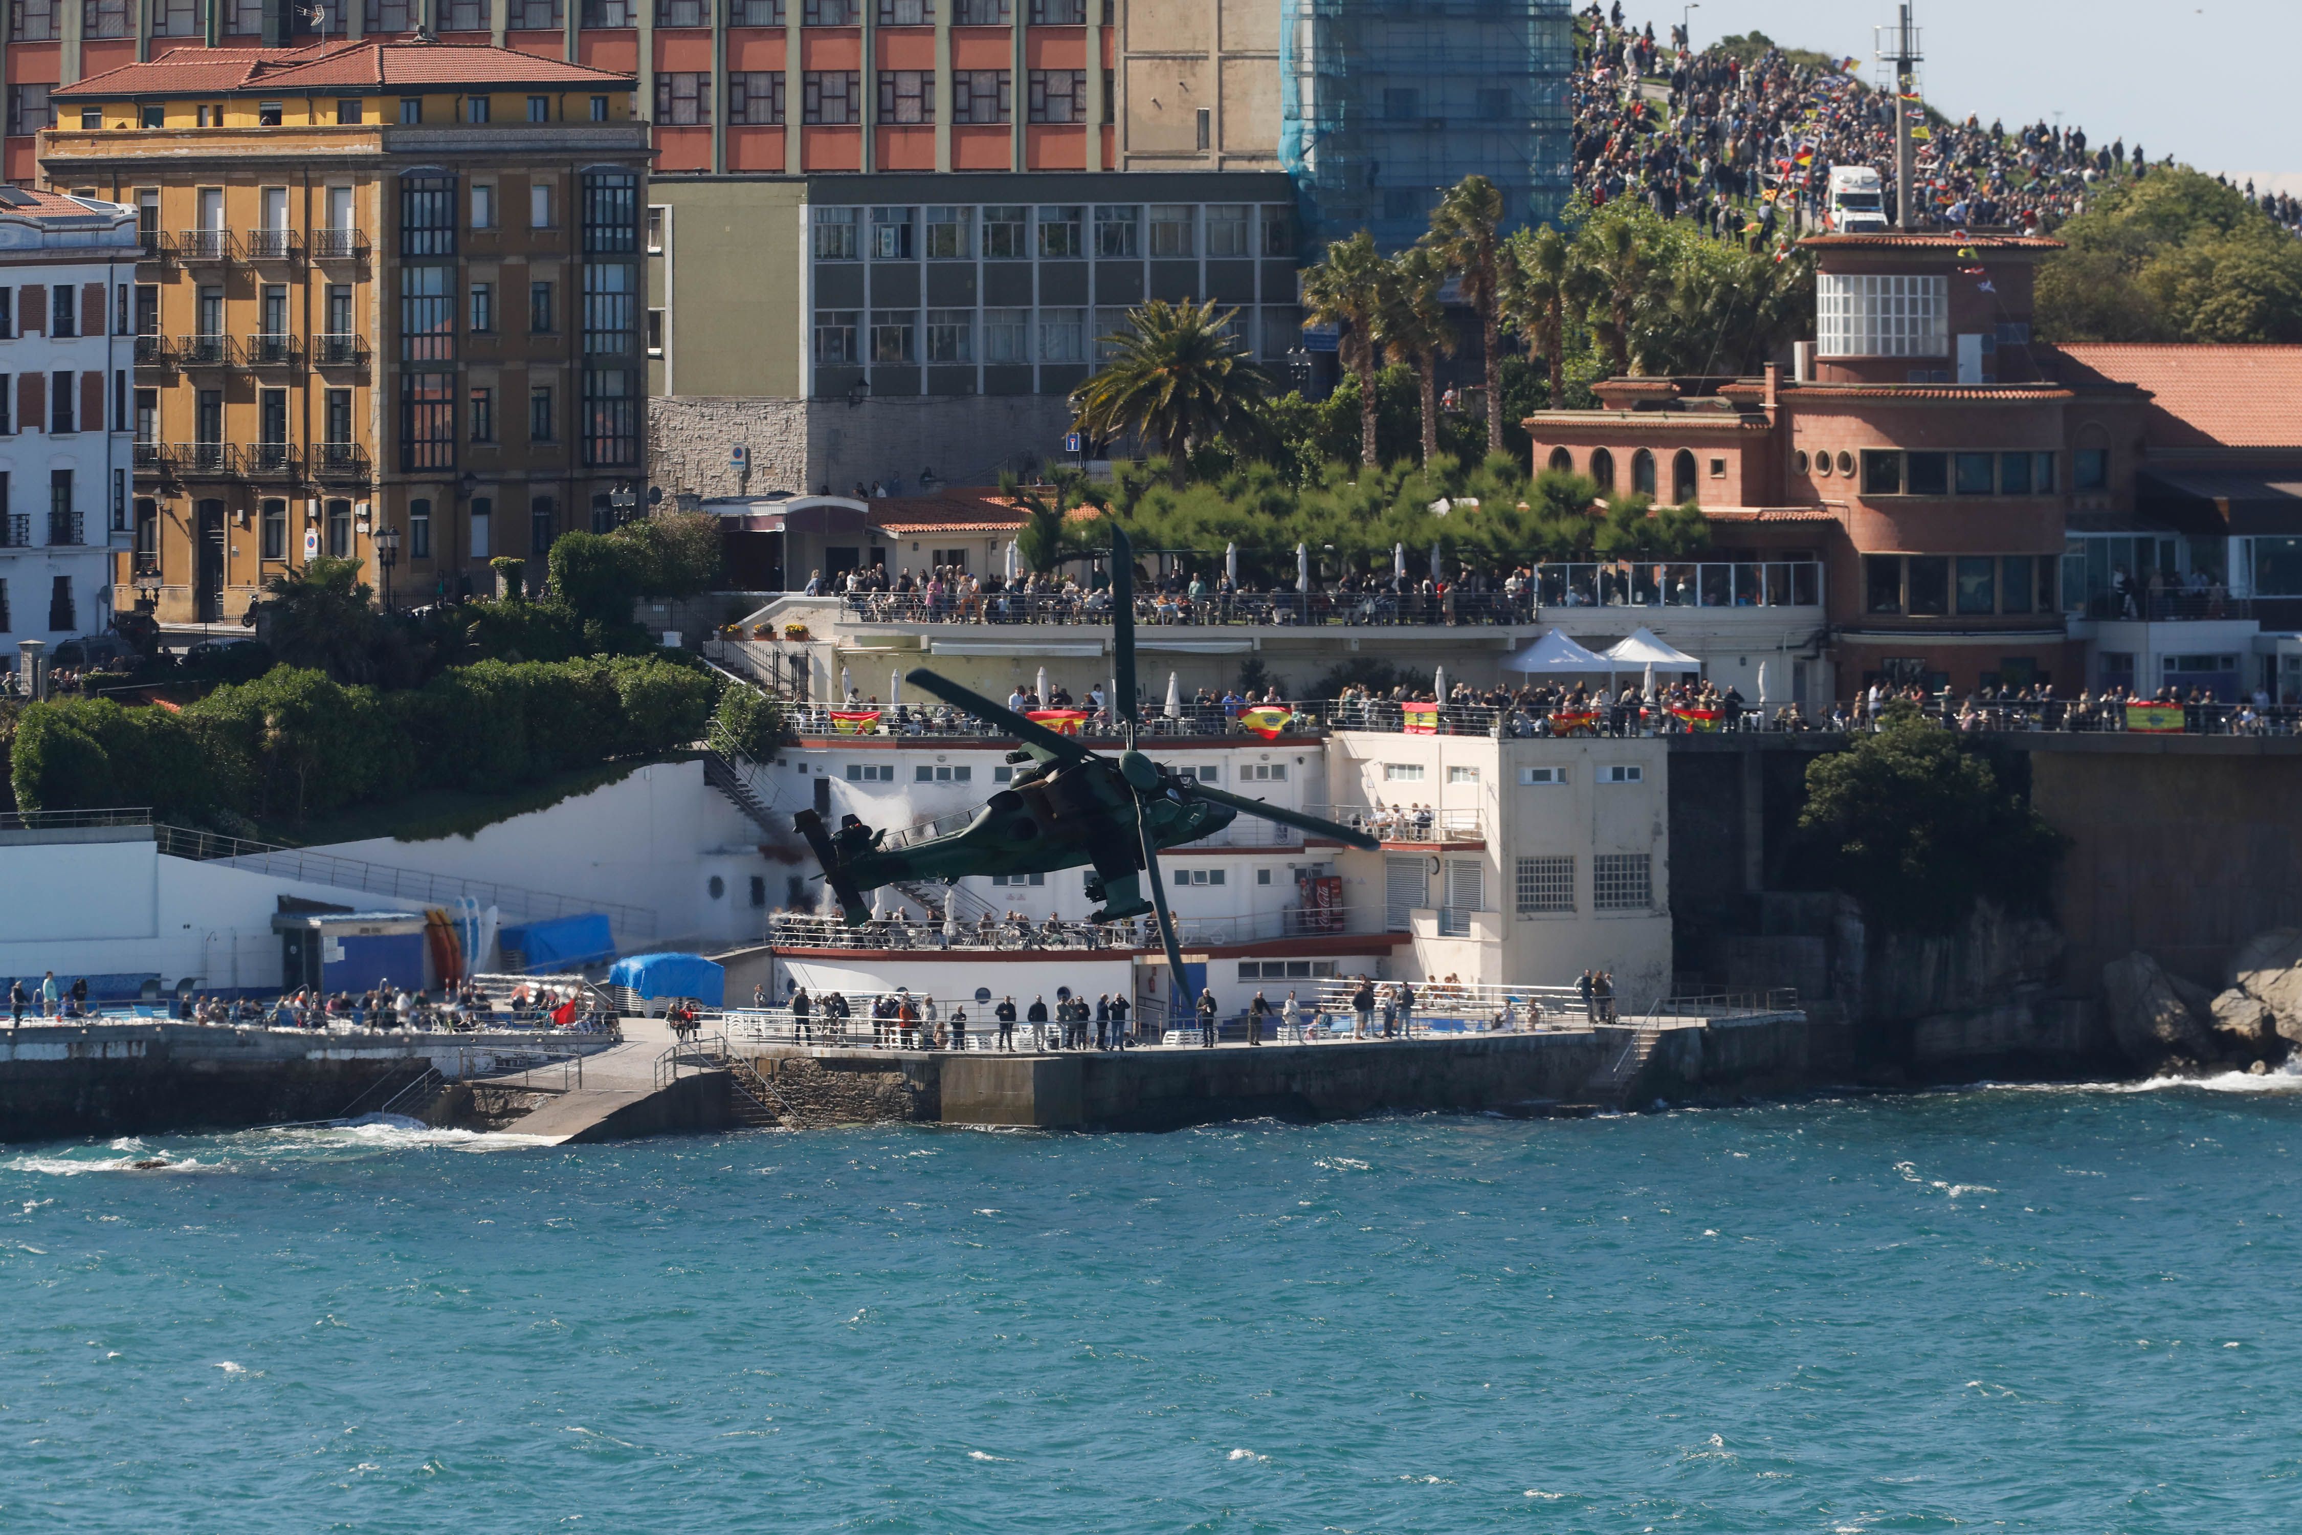
[[[104,633],[127,550],[136,209],[0,189],[0,644]]]

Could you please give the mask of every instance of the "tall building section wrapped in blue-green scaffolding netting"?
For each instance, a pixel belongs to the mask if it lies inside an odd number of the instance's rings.
[[[1471,173],[1510,223],[1570,191],[1570,0],[1282,0],[1280,163],[1314,242],[1374,230],[1386,251],[1430,228]]]

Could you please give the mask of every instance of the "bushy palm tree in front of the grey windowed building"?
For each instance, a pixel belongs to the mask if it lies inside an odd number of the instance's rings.
[[[1192,449],[1250,426],[1268,396],[1268,380],[1232,336],[1236,318],[1236,308],[1218,315],[1213,299],[1128,311],[1128,329],[1105,336],[1116,357],[1070,391],[1075,430],[1100,440],[1133,430],[1181,483]]]

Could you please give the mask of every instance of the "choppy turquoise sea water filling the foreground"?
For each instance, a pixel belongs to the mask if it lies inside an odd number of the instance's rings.
[[[2293,1530],[2221,1086],[7,1148],[0,1528]]]

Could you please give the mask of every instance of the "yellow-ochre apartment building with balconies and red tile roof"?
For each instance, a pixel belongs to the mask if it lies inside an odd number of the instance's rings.
[[[541,552],[534,502],[589,506],[640,474],[633,78],[458,48],[387,83],[424,48],[283,53],[237,87],[129,64],[64,92],[101,127],[41,140],[44,177],[124,203],[143,244],[120,313],[150,548],[120,580],[157,585],[163,621],[235,619],[322,555],[394,601],[481,589],[490,557]],[[559,292],[585,295],[582,327]],[[497,410],[539,394],[603,400],[603,430]]]

